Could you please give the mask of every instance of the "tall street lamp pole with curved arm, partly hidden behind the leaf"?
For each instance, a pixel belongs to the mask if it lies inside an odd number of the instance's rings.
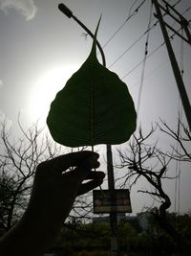
[[[88,35],[90,35],[93,39],[95,35],[78,19],[74,16],[73,12],[68,9],[64,4],[59,4],[58,9],[63,12],[65,15],[67,15],[69,18],[73,18],[74,21],[76,21],[80,27],[82,27]],[[103,50],[98,42],[96,40],[96,46],[98,47],[103,66],[106,66],[106,59],[103,53]],[[114,178],[114,166],[113,166],[113,156],[112,156],[112,146],[107,145],[106,146],[107,151],[107,173],[108,173],[108,189],[110,192],[110,198],[114,202],[116,201],[116,190],[115,190],[115,178]],[[111,212],[110,213],[110,227],[111,227],[111,256],[117,256],[118,255],[118,243],[117,243],[117,212]]]

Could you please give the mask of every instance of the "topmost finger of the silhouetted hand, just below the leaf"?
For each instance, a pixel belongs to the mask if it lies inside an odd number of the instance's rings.
[[[96,168],[98,157],[99,154],[93,151],[78,151],[60,155],[46,163],[61,173],[74,166],[91,170]]]

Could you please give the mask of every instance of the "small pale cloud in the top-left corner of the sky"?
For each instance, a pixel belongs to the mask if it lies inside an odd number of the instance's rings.
[[[31,20],[37,11],[33,0],[0,0],[0,10],[8,14],[9,9],[20,12],[26,20]]]

